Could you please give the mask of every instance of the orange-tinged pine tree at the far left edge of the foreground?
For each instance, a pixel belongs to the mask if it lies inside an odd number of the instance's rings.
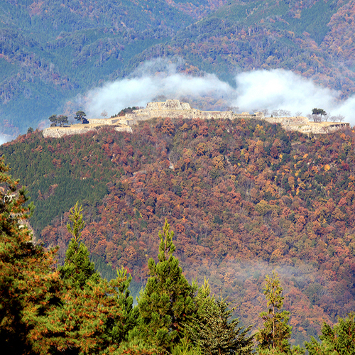
[[[24,220],[32,205],[0,158],[0,344],[2,354],[37,354],[41,319],[57,305],[60,279],[53,272],[55,250],[32,241]]]

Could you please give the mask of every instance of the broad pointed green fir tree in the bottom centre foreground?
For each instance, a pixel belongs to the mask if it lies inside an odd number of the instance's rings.
[[[152,258],[148,261],[150,277],[138,299],[139,332],[159,352],[170,351],[170,347],[179,342],[185,324],[196,310],[197,288],[187,282],[178,258],[173,256],[173,236],[165,219],[163,232],[159,231],[158,263]]]

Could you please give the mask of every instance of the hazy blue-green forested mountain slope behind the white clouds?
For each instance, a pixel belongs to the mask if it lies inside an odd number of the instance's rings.
[[[0,18],[0,133],[12,136],[73,114],[87,90],[155,58],[231,84],[284,68],[354,93],[353,0],[1,0]]]

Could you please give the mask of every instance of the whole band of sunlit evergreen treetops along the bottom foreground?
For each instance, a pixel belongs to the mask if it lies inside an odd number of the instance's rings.
[[[148,260],[149,277],[134,307],[127,269],[116,269],[108,282],[89,261],[78,202],[69,213],[64,264],[55,268],[58,249],[33,243],[24,225],[32,205],[26,206],[23,188],[16,192],[18,181],[8,170],[0,158],[0,339],[6,354],[305,354],[290,347],[293,327],[290,312],[282,310],[285,297],[275,271],[264,283],[263,326],[250,335],[252,326],[230,319],[229,303],[210,294],[208,280],[188,283],[173,255],[167,219],[158,233],[158,262]],[[312,337],[305,347],[311,355],[352,354],[354,329],[354,315],[334,327],[324,323],[321,342]]]

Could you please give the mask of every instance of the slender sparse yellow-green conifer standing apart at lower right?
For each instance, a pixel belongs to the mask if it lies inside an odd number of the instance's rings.
[[[261,312],[259,317],[264,321],[263,328],[258,329],[256,340],[258,341],[259,354],[289,354],[292,327],[288,325],[290,312],[283,310],[283,288],[280,285],[278,273],[273,271],[272,277],[266,275],[266,283],[263,293],[268,300],[268,312]]]

